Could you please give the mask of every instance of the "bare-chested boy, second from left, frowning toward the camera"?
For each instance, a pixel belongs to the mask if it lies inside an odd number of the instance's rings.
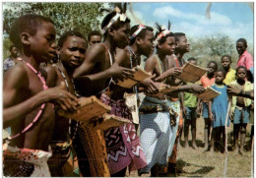
[[[76,30],[69,30],[62,34],[57,45],[58,63],[48,66],[47,84],[49,87],[65,83],[65,89],[78,96],[73,73],[86,58],[87,40]],[[76,161],[76,153],[72,148],[72,141],[77,135],[78,123],[56,113],[56,122],[53,130],[51,148],[52,157],[48,160],[51,175],[54,177],[79,176],[79,168],[70,162]],[[68,161],[70,159],[71,161]]]

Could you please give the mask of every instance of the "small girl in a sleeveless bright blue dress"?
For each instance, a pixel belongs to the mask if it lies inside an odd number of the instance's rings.
[[[221,92],[220,95],[215,97],[212,101],[209,102],[209,116],[212,121],[212,140],[211,140],[211,149],[214,150],[214,142],[221,143],[221,137],[223,136],[223,146],[225,148],[225,117],[227,113],[227,92],[226,86],[224,85],[224,74],[223,70],[218,70],[216,72],[216,82],[212,86],[213,89]],[[229,118],[227,118],[227,124],[229,126]]]

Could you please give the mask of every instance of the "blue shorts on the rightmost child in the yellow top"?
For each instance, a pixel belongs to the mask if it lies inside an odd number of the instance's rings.
[[[243,117],[241,118],[241,114],[243,112]],[[237,108],[234,109],[233,114],[233,124],[248,124],[250,118],[250,107],[244,107],[242,110]]]

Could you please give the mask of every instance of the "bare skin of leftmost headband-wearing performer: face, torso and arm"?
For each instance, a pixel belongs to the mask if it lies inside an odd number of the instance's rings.
[[[130,69],[119,66],[114,61],[114,53],[116,47],[124,48],[128,44],[128,34],[130,31],[130,24],[124,24],[120,29],[115,30],[109,28],[104,40],[104,44],[110,52],[113,65],[110,65],[109,54],[101,44],[90,46],[86,53],[86,60],[74,72],[74,78],[78,80],[78,85],[82,86],[87,91],[88,83],[83,82],[84,79],[89,79],[91,84],[91,91],[86,94],[96,94],[100,90],[108,86],[109,79],[112,77],[115,81],[127,79],[132,77]],[[111,94],[111,92],[110,92]]]

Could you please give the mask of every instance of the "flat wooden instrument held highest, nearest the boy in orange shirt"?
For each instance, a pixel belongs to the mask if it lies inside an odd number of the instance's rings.
[[[201,68],[186,62],[186,64],[182,67],[181,74],[177,76],[176,79],[180,79],[187,83],[195,83],[200,80],[200,78],[204,76],[207,71],[208,70],[205,68]]]

